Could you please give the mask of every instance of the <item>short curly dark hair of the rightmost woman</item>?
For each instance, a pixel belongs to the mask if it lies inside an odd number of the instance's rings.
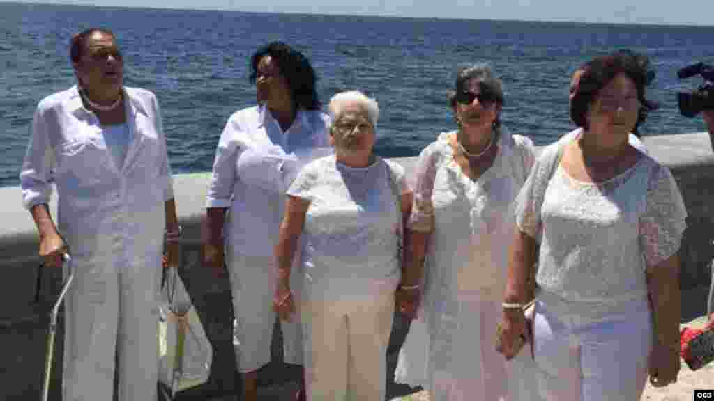
[[[630,50],[620,50],[606,56],[595,57],[592,61],[580,66],[583,75],[580,76],[578,88],[575,90],[573,100],[570,101],[570,119],[576,126],[588,128],[585,113],[590,103],[595,101],[600,90],[610,83],[619,73],[625,73],[635,82],[637,98],[642,104],[638,111],[638,118],[633,128],[633,133],[640,136],[639,126],[645,122],[648,113],[658,108],[658,104],[645,98],[645,88],[654,79],[654,72],[648,71],[649,60],[647,56],[636,54]]]

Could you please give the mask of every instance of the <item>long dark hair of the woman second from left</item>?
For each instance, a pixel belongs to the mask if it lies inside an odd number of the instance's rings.
[[[310,61],[299,51],[281,41],[274,41],[258,49],[251,56],[251,83],[256,82],[258,63],[263,56],[271,56],[278,64],[278,71],[288,81],[288,87],[296,108],[319,110],[322,103],[318,99],[317,76]]]

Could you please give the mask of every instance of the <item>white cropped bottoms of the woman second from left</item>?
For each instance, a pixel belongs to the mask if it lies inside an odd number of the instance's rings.
[[[233,345],[236,350],[238,372],[258,370],[270,362],[273,328],[276,313],[273,310],[278,271],[275,258],[231,255],[228,263],[233,293]],[[300,297],[300,275],[291,280],[296,300]],[[285,362],[302,365],[302,335],[299,321],[282,322],[283,352]]]

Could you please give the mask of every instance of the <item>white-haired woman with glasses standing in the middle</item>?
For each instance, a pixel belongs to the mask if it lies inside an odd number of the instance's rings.
[[[305,166],[288,190],[274,303],[283,319],[299,308],[308,400],[381,401],[401,277],[399,234],[412,196],[403,168],[372,152],[377,102],[359,91],[337,93],[329,111],[336,153]],[[297,302],[290,277],[301,235]]]

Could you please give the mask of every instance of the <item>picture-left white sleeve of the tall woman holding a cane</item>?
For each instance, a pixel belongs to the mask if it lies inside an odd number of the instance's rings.
[[[20,172],[22,203],[27,209],[49,203],[52,195],[51,178],[55,166],[48,121],[49,111],[40,106],[35,111],[30,126],[30,141]]]

